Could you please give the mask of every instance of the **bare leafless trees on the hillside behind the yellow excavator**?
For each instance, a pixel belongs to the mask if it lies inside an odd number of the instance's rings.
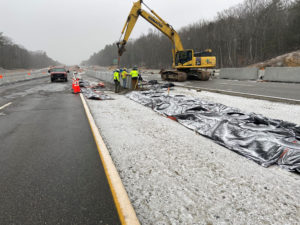
[[[178,31],[185,49],[213,50],[218,67],[241,67],[300,48],[300,0],[245,0]],[[168,68],[172,44],[157,30],[127,43],[121,65]],[[82,64],[112,65],[115,44],[106,45]]]

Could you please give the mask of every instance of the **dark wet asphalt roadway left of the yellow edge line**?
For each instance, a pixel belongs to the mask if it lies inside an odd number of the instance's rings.
[[[120,224],[80,96],[40,79],[0,87],[0,224]]]

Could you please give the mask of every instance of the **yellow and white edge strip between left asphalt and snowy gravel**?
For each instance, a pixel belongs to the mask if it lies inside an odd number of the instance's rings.
[[[92,117],[89,107],[82,94],[80,94],[80,97],[97,145],[100,159],[104,167],[104,171],[112,192],[112,196],[119,214],[121,224],[140,225],[140,222],[128,198],[127,192],[124,188],[120,175],[112,161],[112,158],[110,157],[109,151],[107,150],[107,147],[100,135],[100,132]]]

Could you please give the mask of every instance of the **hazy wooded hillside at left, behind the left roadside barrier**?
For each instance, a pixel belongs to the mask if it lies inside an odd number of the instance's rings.
[[[46,52],[28,51],[14,44],[10,38],[0,32],[0,67],[4,69],[36,69],[57,64],[58,62],[49,58]]]

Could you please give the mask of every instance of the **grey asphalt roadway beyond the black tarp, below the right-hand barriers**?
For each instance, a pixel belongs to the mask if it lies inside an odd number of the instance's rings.
[[[144,73],[143,77],[146,80],[156,79],[161,81],[160,75],[156,73]],[[241,92],[252,95],[264,95],[278,98],[300,100],[299,83],[237,81],[214,78],[209,81],[185,81],[178,83],[178,85],[185,87],[218,89],[225,91]]]

